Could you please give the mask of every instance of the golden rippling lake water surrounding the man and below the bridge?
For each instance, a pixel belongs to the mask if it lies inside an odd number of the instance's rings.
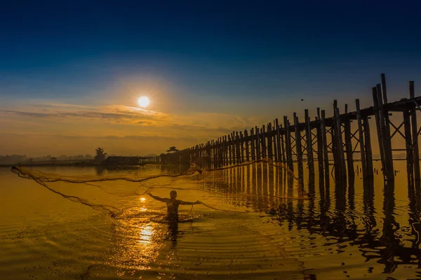
[[[178,172],[159,165],[35,169],[96,179]],[[385,188],[380,174],[373,183],[358,174],[346,186],[332,178],[328,189],[306,179],[305,195],[283,169],[264,162],[142,185],[47,184],[86,205],[1,168],[0,278],[421,278],[420,195],[408,189],[406,162],[395,169],[394,186]],[[147,188],[160,197],[175,189],[178,199],[206,205],[181,205],[180,216],[192,220],[168,225],[165,204],[142,195]],[[89,206],[105,204],[121,213]]]

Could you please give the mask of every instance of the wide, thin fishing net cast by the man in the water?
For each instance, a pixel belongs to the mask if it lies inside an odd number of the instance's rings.
[[[178,192],[180,200],[199,200],[200,207],[195,209],[227,212],[259,211],[259,204],[308,199],[293,172],[286,165],[269,160],[208,170],[192,164],[185,170],[179,166],[150,165],[96,174],[78,174],[77,169],[70,174],[52,174],[27,167],[12,167],[11,171],[66,200],[112,218],[163,221],[166,205],[147,194],[168,197],[171,190]],[[228,203],[221,203],[223,199]],[[192,210],[193,206],[180,212],[180,221],[200,215],[200,211],[192,214]]]

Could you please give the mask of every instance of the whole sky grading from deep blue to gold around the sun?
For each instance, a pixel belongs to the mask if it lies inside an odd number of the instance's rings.
[[[0,155],[163,153],[421,80],[420,1],[0,3]],[[150,104],[138,106],[138,97]],[[304,101],[301,101],[304,99]]]

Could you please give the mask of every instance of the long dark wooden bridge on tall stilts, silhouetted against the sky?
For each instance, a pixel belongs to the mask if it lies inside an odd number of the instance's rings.
[[[355,111],[349,111],[345,104],[341,113],[335,100],[331,117],[326,118],[326,112],[318,108],[317,116],[312,120],[306,109],[302,122],[293,113],[292,120],[283,116],[283,123],[276,118],[250,131],[232,132],[204,144],[163,155],[161,162],[194,162],[213,169],[268,159],[284,162],[293,170],[293,162],[296,161],[300,181],[303,181],[304,162],[307,162],[309,176],[314,176],[314,164],[317,162],[319,179],[328,186],[330,165],[334,168],[335,180],[345,182],[354,178],[354,155],[359,154],[355,158],[361,160],[363,179],[373,180],[370,130],[375,129],[384,179],[394,181],[392,152],[405,151],[408,183],[420,186],[418,136],[421,127],[417,126],[417,111],[421,111],[421,97],[415,97],[414,82],[409,82],[409,98],[388,102],[385,74],[382,74],[381,83],[373,87],[372,93],[373,106],[366,109],[361,109],[359,99],[356,99]],[[399,125],[390,120],[392,112],[402,114]],[[375,118],[374,128],[368,122],[371,117]],[[356,125],[352,126],[354,120]],[[394,137],[403,137],[405,147],[392,147]],[[333,158],[333,164],[330,158]]]

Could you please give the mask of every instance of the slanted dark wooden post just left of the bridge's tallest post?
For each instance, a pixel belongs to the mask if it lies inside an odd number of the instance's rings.
[[[383,109],[381,86],[377,85],[377,102],[379,107],[380,132],[383,144],[383,155],[385,156],[386,179],[394,182],[394,168],[392,158],[392,141],[390,139],[389,117],[385,117],[387,112]]]

